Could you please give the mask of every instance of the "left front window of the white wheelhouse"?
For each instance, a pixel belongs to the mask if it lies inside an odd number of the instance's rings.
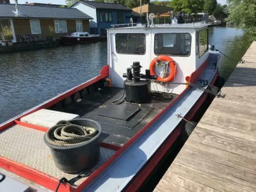
[[[145,34],[116,34],[116,52],[119,54],[145,54]]]

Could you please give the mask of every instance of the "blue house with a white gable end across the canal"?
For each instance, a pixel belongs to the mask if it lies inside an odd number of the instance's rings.
[[[106,35],[106,29],[112,24],[131,23],[132,10],[116,3],[100,3],[95,1],[77,1],[70,8],[77,8],[86,13],[93,20],[90,20],[90,33]],[[138,22],[138,19],[136,20]]]

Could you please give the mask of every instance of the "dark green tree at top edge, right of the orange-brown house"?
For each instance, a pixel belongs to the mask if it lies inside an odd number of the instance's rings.
[[[172,0],[170,7],[174,12],[200,13],[204,10],[204,0]]]

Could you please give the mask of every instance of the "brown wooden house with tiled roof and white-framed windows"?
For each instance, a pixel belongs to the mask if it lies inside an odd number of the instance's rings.
[[[12,29],[13,42],[20,42],[19,35],[47,36],[59,39],[75,31],[88,31],[92,17],[74,8],[53,6],[35,6],[0,3],[0,40],[3,40],[3,29]]]

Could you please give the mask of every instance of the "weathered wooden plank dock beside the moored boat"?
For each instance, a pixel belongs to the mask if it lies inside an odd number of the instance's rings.
[[[256,191],[256,42],[154,191]]]

